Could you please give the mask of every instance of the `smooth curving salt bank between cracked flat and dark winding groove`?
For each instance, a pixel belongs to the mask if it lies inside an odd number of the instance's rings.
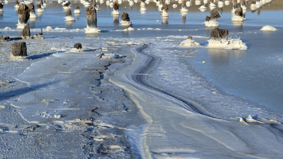
[[[216,158],[282,155],[274,146],[282,145],[281,125],[246,126],[202,115],[188,110],[182,101],[137,82],[146,79],[158,63],[154,61],[148,71],[141,72],[152,58],[137,50],[132,50],[133,63],[115,72],[109,81],[128,92],[148,123],[142,134],[144,158],[209,157],[212,152]]]

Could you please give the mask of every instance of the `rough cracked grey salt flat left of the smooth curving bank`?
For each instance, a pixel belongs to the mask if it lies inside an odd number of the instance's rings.
[[[129,61],[96,56],[120,52],[130,59],[130,46],[109,40],[20,40],[27,43],[25,60],[8,58],[15,41],[1,42],[0,80],[9,81],[0,87],[1,158],[140,156],[130,148],[125,127],[143,118],[125,92],[108,82]],[[85,51],[68,53],[77,41]],[[112,116],[117,125],[110,124]]]

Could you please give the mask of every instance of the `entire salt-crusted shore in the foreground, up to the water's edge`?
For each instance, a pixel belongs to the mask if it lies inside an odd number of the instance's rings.
[[[202,41],[206,37],[199,37]],[[282,114],[226,94],[186,60],[184,37],[46,38],[11,60],[1,42],[2,158],[278,158]],[[69,52],[77,42],[84,52]],[[122,54],[98,59],[96,54]],[[61,116],[56,118],[56,116]]]

